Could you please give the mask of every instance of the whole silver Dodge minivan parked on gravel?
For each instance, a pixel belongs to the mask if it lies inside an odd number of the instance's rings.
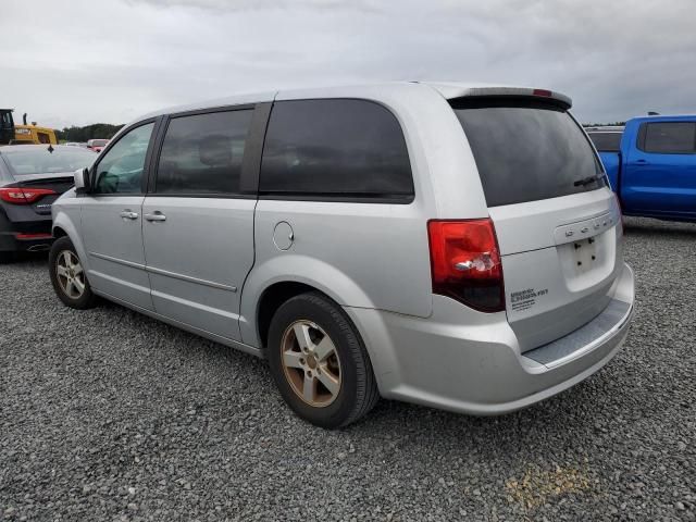
[[[268,358],[323,427],[380,397],[524,408],[604,366],[633,312],[620,208],[570,107],[401,83],[146,115],[53,204],[53,287]]]

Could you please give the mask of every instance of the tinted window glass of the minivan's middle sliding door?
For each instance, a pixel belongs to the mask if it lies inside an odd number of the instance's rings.
[[[239,194],[252,110],[172,119],[157,172],[157,192]]]

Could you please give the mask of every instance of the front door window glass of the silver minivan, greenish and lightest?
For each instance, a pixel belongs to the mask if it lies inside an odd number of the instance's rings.
[[[97,164],[95,192],[140,194],[145,158],[154,123],[126,133]]]

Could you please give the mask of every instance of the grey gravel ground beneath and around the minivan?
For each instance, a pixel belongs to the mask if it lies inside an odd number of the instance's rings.
[[[324,432],[265,362],[0,266],[0,520],[695,520],[696,226],[626,220],[624,349],[502,418],[382,401]]]

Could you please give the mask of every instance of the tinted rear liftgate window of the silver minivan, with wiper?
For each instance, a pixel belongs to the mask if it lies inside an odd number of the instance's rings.
[[[606,186],[585,133],[566,110],[507,98],[451,104],[469,139],[488,207]]]

